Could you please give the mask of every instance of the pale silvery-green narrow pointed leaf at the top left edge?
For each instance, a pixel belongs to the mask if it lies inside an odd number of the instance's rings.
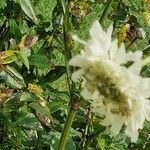
[[[37,18],[35,12],[33,10],[32,4],[30,0],[18,0],[22,10],[24,13],[35,23],[37,23]]]

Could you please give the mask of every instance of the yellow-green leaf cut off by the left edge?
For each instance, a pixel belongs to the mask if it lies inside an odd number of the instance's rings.
[[[1,64],[9,64],[17,59],[14,51],[6,50],[0,53],[0,63]]]

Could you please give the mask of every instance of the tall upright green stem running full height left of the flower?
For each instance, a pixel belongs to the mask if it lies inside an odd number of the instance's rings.
[[[63,2],[63,1],[62,1]],[[61,137],[60,137],[60,141],[59,141],[59,145],[58,145],[58,150],[64,150],[65,149],[65,145],[67,143],[67,139],[69,136],[69,130],[71,128],[71,125],[74,121],[75,118],[75,113],[76,113],[76,108],[74,108],[74,104],[76,104],[74,98],[72,97],[72,93],[73,93],[73,83],[71,82],[71,71],[70,71],[70,66],[68,64],[68,61],[71,59],[71,49],[72,49],[72,44],[71,44],[71,38],[70,38],[70,20],[69,20],[69,11],[68,11],[68,7],[69,7],[69,0],[66,3],[66,6],[64,7],[64,2],[62,3],[63,5],[63,9],[64,10],[64,23],[63,23],[63,34],[64,34],[64,53],[65,53],[65,65],[66,65],[66,74],[67,74],[67,82],[68,82],[68,87],[69,87],[69,92],[70,92],[70,98],[71,98],[71,108],[70,111],[68,113]]]

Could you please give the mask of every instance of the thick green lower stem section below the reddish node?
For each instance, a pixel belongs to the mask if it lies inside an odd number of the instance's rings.
[[[57,150],[64,150],[65,149],[65,145],[67,143],[67,138],[69,135],[69,130],[70,130],[72,122],[75,118],[75,114],[76,114],[76,111],[71,108],[69,111],[69,114],[67,116],[67,119],[66,119],[63,131],[62,131],[62,135],[61,135]]]

